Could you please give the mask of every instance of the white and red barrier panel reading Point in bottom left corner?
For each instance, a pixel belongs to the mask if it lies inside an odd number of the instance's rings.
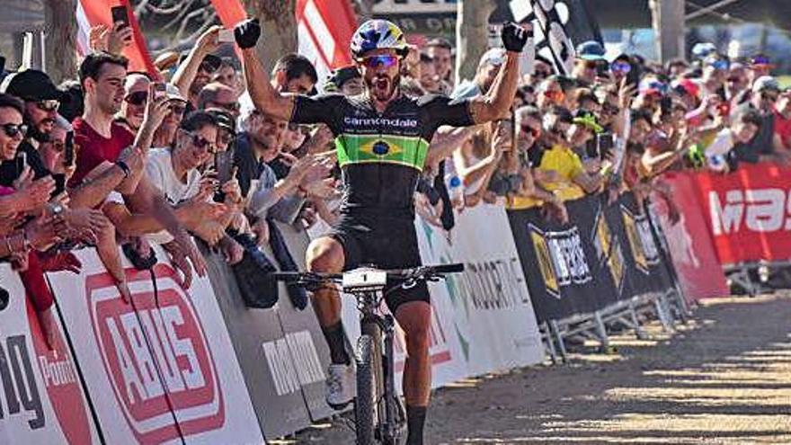
[[[66,342],[49,350],[7,263],[0,264],[0,283],[11,295],[0,311],[0,443],[100,443]]]

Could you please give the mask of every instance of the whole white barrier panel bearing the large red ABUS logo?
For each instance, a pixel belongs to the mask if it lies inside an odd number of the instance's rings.
[[[107,443],[263,443],[209,280],[184,290],[156,254],[156,285],[125,263],[133,305],[93,249],[50,275]]]

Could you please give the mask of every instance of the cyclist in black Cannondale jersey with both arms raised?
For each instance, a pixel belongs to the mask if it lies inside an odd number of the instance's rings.
[[[442,125],[467,127],[507,116],[528,31],[514,23],[503,26],[506,62],[491,89],[484,96],[455,102],[442,95],[408,98],[400,92],[399,73],[408,48],[401,30],[386,20],[365,22],[354,32],[351,55],[365,83],[364,92],[354,97],[279,93],[253,49],[261,35],[259,22],[242,22],[235,34],[244,55],[247,88],[258,111],[299,124],[324,123],[333,131],[342,169],[341,218],[330,235],[310,244],[307,269],[337,273],[365,264],[383,269],[420,265],[413,194],[423,165],[449,155],[447,147],[430,147],[431,138]],[[316,291],[313,304],[333,362],[327,403],[340,409],[354,398],[355,385],[345,349],[341,300],[335,290],[324,289]],[[407,443],[422,444],[431,394],[429,290],[424,283],[398,289],[388,295],[387,307],[406,338]]]

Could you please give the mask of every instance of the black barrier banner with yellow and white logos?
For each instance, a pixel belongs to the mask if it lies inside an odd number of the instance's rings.
[[[674,286],[647,212],[630,193],[612,204],[605,199],[567,201],[565,225],[537,208],[509,210],[539,323],[592,314]]]

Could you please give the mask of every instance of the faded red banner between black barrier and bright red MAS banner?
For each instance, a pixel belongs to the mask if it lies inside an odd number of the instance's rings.
[[[693,178],[692,174],[675,173],[662,177],[671,186],[673,202],[680,209],[680,219],[675,224],[671,222],[667,201],[657,195],[652,198],[681,290],[689,301],[730,294]]]

